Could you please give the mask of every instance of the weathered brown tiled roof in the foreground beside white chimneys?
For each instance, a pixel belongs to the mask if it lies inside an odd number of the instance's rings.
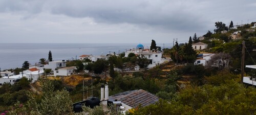
[[[141,105],[142,107],[156,103],[159,98],[143,89],[125,91],[113,96],[109,99],[121,101],[122,103],[129,105],[133,108]]]

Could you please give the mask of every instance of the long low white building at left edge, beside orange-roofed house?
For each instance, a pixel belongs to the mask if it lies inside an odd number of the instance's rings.
[[[15,82],[17,82],[19,79],[22,79],[22,77],[25,77],[26,75],[15,75],[15,76],[5,76],[0,78],[0,85],[3,85],[4,83],[10,83],[10,84],[14,84]]]

